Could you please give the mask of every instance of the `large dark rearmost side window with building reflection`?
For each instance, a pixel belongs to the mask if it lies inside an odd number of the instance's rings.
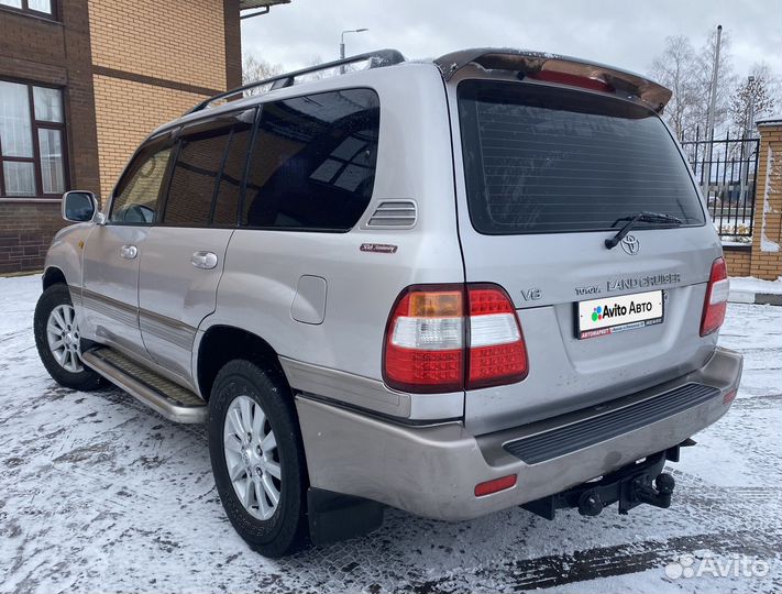
[[[346,231],[372,197],[379,100],[350,89],[265,103],[242,224]]]

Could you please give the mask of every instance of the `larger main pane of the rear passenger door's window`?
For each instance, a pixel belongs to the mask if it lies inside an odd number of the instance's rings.
[[[230,135],[230,128],[221,128],[181,139],[168,186],[164,224],[209,226],[217,178]]]

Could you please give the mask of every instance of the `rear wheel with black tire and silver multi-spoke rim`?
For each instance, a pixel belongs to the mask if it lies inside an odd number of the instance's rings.
[[[212,385],[208,431],[214,483],[239,535],[271,558],[306,546],[307,466],[293,396],[282,373],[244,360],[227,363]],[[276,448],[263,447],[271,443],[269,433]],[[273,487],[278,502],[269,506]]]

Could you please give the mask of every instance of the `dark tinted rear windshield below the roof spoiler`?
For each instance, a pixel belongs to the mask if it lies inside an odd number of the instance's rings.
[[[465,80],[458,96],[476,231],[607,231],[640,211],[704,224],[686,164],[651,110],[524,82]]]

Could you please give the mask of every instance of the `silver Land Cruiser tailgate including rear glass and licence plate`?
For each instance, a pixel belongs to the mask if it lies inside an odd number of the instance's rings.
[[[467,426],[521,425],[701,365],[716,340],[700,323],[719,245],[659,117],[564,85],[449,87],[466,280],[507,289],[529,353],[521,383],[467,393]],[[608,249],[641,211],[681,224],[639,221]]]

